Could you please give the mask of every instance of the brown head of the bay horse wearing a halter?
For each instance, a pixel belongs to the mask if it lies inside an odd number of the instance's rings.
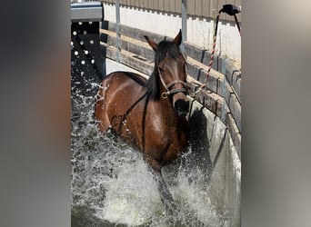
[[[160,98],[169,98],[176,114],[185,116],[189,111],[189,101],[186,97],[186,59],[179,49],[182,41],[181,30],[173,41],[156,44],[147,36],[145,39],[156,52],[155,69],[151,76],[162,84],[162,89],[158,89]]]

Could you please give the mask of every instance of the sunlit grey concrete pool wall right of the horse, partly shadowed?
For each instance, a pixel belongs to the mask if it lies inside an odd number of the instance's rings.
[[[200,148],[194,149],[198,152],[203,148],[201,160],[209,166],[206,174],[211,203],[228,218],[226,226],[240,226],[241,162],[231,134],[219,117],[196,100],[192,100],[189,123],[192,143]]]

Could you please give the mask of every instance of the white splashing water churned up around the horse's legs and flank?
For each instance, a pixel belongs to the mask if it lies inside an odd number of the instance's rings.
[[[83,110],[72,118],[72,226],[228,226],[209,197],[206,173],[182,162],[163,168],[180,212],[166,212],[143,154],[93,119],[94,96],[78,94]],[[77,103],[74,103],[77,105]]]

